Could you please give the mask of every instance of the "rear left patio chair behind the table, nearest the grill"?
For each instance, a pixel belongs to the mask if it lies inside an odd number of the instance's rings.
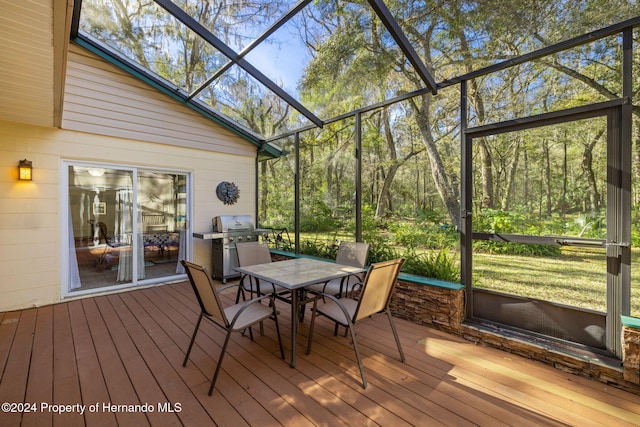
[[[256,264],[266,264],[271,262],[271,252],[266,242],[241,242],[236,243],[236,251],[238,253],[238,266],[248,267]],[[259,289],[258,289],[259,288]],[[282,295],[288,293],[287,288],[274,285],[268,282],[259,282],[251,276],[243,274],[240,277],[240,286],[236,295],[236,303],[240,301],[240,296],[245,299],[244,292],[247,291],[253,298],[256,295]]]

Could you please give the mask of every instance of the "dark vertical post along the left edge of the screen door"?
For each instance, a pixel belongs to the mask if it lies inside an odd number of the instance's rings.
[[[465,286],[465,315],[473,317],[473,286],[472,286],[472,257],[473,257],[473,199],[472,199],[472,138],[467,137],[467,81],[460,82],[460,281]]]

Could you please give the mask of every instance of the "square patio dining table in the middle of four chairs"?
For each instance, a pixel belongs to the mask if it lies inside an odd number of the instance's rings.
[[[352,274],[362,273],[364,268],[351,267],[311,258],[295,258],[248,267],[236,267],[239,273],[258,280],[280,285],[291,291],[291,367],[296,366],[296,335],[300,305],[304,301],[304,288],[308,285],[340,279]]]

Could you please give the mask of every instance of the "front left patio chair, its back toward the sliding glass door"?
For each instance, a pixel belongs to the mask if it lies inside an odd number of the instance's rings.
[[[240,304],[223,307],[218,294],[224,289],[238,285],[232,284],[216,290],[206,268],[185,260],[180,262],[187,272],[187,276],[189,277],[189,281],[193,287],[193,292],[196,294],[196,298],[200,304],[200,316],[198,316],[198,321],[196,322],[196,327],[193,331],[193,336],[191,337],[187,353],[184,356],[182,366],[187,366],[189,354],[193,348],[193,343],[195,342],[196,334],[198,333],[200,322],[203,318],[209,319],[214,325],[217,325],[227,331],[224,344],[222,345],[222,350],[220,351],[220,356],[218,357],[218,364],[211,380],[211,386],[209,387],[209,396],[213,393],[213,388],[216,385],[216,380],[220,373],[220,367],[222,366],[222,359],[226,353],[232,332],[241,332],[249,328],[249,334],[251,336],[251,340],[253,340],[251,326],[268,318],[273,318],[276,324],[278,344],[280,345],[280,356],[284,359],[284,349],[282,348],[282,340],[280,339],[278,314],[275,309],[275,304],[273,304],[273,295],[263,295],[249,301],[244,301]],[[269,304],[269,306],[262,304],[261,301],[263,299],[270,299],[271,304]]]

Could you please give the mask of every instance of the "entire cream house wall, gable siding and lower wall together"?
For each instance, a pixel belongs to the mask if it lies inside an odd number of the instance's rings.
[[[63,160],[191,172],[189,231],[211,230],[216,215],[255,212],[255,146],[78,50],[69,55],[64,129],[0,121],[0,312],[61,300]],[[31,182],[17,180],[24,158]],[[216,198],[220,181],[238,184],[237,204]],[[194,239],[192,254],[211,268],[210,242]]]

